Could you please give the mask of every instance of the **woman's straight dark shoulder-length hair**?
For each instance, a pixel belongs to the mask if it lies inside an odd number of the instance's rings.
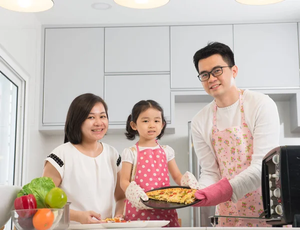
[[[108,119],[107,105],[102,98],[91,93],[86,93],[76,97],[72,101],[67,111],[65,120],[64,143],[81,143],[81,125],[88,117],[88,114],[92,107],[94,107],[94,105],[97,103],[101,103],[104,106],[105,113]]]

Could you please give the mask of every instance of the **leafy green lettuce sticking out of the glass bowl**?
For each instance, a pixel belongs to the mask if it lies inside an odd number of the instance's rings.
[[[25,184],[17,193],[17,197],[33,194],[36,199],[37,208],[45,208],[45,197],[48,191],[55,187],[50,177],[38,177]]]

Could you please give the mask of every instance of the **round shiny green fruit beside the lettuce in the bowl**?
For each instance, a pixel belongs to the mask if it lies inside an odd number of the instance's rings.
[[[45,203],[50,208],[62,208],[66,204],[66,194],[61,188],[52,188],[45,197]]]

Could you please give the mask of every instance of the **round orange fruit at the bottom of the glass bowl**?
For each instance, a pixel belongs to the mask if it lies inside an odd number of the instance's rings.
[[[37,230],[46,230],[50,228],[54,221],[54,214],[48,208],[38,209],[33,215],[32,223]]]

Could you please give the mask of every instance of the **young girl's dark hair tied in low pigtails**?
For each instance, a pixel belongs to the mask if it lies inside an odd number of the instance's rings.
[[[126,138],[128,140],[134,140],[136,138],[136,136],[138,136],[138,132],[131,128],[130,122],[133,121],[136,124],[136,121],[137,121],[137,118],[138,118],[139,114],[141,114],[142,112],[146,111],[149,108],[153,108],[153,109],[156,109],[156,110],[161,112],[161,119],[162,119],[163,127],[161,129],[160,134],[156,138],[160,139],[163,136],[165,126],[166,126],[166,122],[165,122],[165,119],[163,117],[163,110],[162,110],[161,106],[156,101],[146,100],[146,101],[137,102],[133,106],[133,108],[131,110],[131,114],[127,118],[125,135],[126,135]]]

